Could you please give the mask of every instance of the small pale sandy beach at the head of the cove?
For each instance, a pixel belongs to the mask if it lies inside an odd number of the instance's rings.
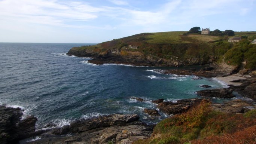
[[[247,76],[242,76],[239,74],[232,74],[231,76],[226,77],[215,77],[215,79],[220,80],[221,82],[225,83],[226,85],[234,85],[240,86],[241,82],[231,82],[232,80],[239,80],[239,79],[246,79]]]

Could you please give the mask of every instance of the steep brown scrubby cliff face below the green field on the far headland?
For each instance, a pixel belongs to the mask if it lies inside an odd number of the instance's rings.
[[[126,44],[128,45],[128,44]],[[148,44],[144,43],[139,49],[130,49],[127,46],[121,48],[101,48],[102,44],[96,46],[83,46],[71,48],[68,55],[79,57],[92,57],[89,62],[94,64],[116,63],[144,66],[180,66],[180,65],[201,65],[216,61],[214,56],[205,56],[200,53],[191,55],[191,52],[198,50],[199,45],[195,44]],[[202,49],[202,48],[199,48]]]

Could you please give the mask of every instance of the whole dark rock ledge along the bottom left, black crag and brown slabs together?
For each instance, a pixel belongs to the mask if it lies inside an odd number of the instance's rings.
[[[36,117],[21,120],[22,110],[0,106],[0,144],[131,144],[150,137],[152,126],[139,121],[137,114],[111,114],[74,120],[61,128],[35,131]],[[40,137],[28,141],[31,137]]]

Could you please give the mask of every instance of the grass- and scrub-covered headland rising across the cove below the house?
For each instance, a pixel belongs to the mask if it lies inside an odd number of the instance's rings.
[[[235,36],[244,39],[229,43],[232,36],[190,34],[187,31],[141,33],[94,46],[72,48],[69,54],[97,58],[114,53],[119,58],[136,56],[164,66],[172,66],[170,62],[177,65],[209,64],[222,62],[224,58],[230,65],[241,66],[246,61],[246,68],[255,69],[256,45],[250,44],[250,40],[256,39],[256,32],[235,32]],[[138,49],[131,49],[129,45],[138,46]]]

